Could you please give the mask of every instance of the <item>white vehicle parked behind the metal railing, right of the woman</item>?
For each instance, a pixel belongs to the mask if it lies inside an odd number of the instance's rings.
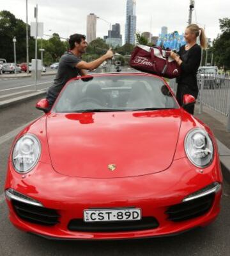
[[[201,66],[198,69],[199,86],[201,88],[201,80],[204,79],[204,89],[217,89],[220,87],[220,74],[217,66]]]

